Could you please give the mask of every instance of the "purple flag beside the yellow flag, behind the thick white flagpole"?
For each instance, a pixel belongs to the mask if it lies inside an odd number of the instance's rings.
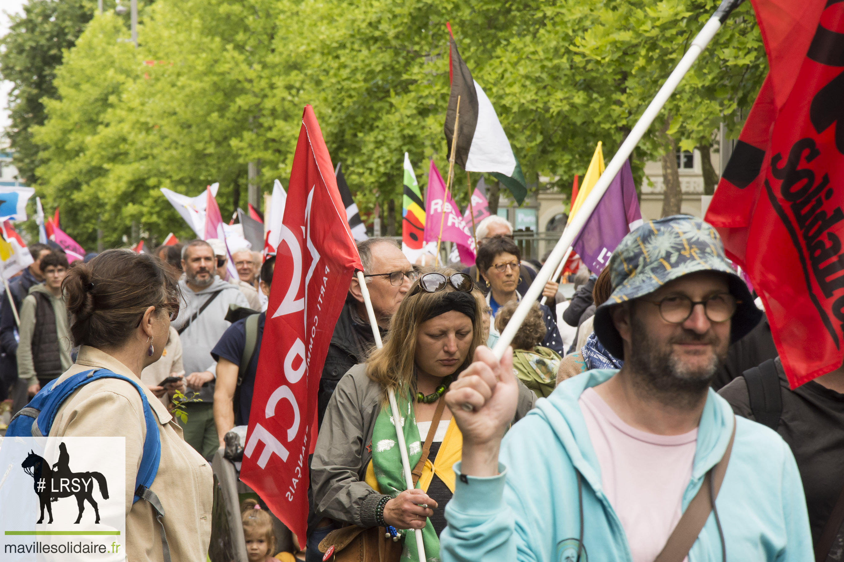
[[[589,270],[598,274],[609,263],[609,256],[621,238],[640,224],[639,200],[628,160],[609,184],[571,247]]]

